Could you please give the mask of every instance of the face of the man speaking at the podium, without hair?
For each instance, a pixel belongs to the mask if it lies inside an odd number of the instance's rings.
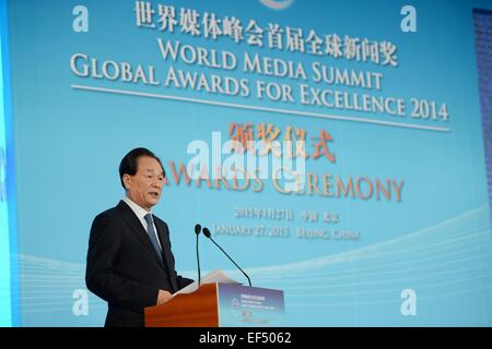
[[[164,185],[164,172],[156,159],[141,156],[137,159],[137,173],[124,174],[127,195],[140,207],[150,210],[159,203]]]

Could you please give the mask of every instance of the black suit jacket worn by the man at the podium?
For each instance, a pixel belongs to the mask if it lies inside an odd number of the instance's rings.
[[[167,225],[153,218],[164,264],[124,201],[94,218],[85,282],[89,290],[108,302],[105,326],[143,326],[143,308],[156,304],[159,289],[173,293],[192,282],[177,275]]]

